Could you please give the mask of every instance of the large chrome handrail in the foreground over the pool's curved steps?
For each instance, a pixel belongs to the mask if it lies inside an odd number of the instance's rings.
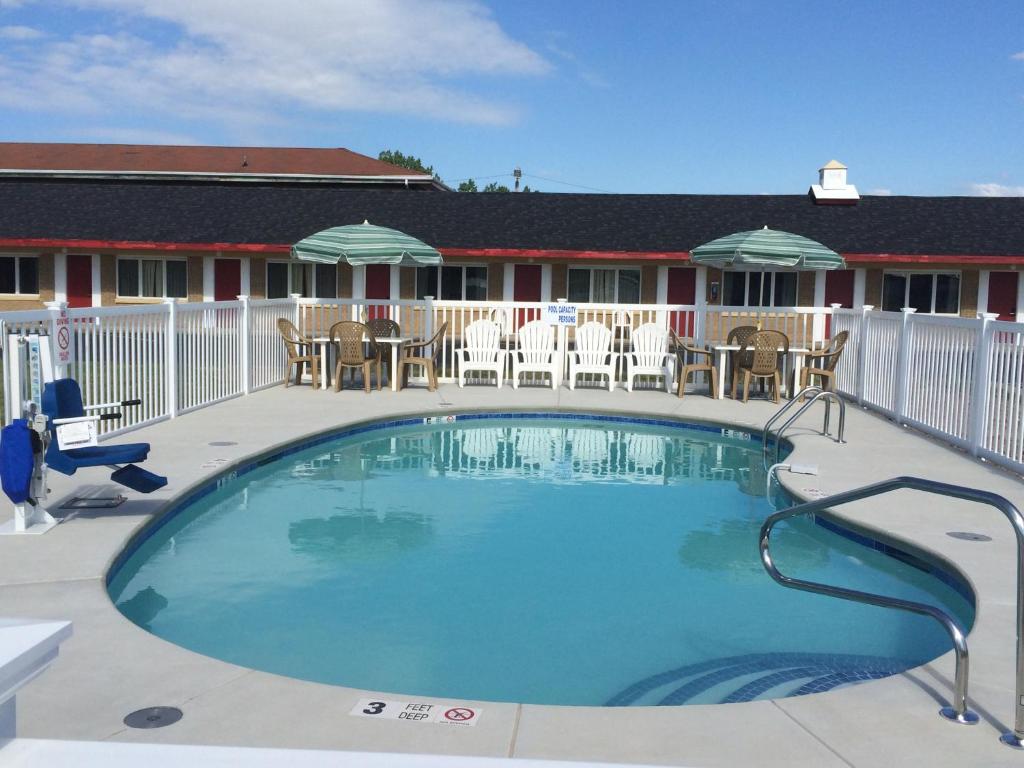
[[[844,600],[852,600],[853,602],[868,603],[887,608],[907,610],[934,618],[942,625],[946,632],[949,633],[953,642],[953,649],[956,653],[953,706],[943,707],[939,711],[939,714],[948,720],[953,720],[958,723],[976,723],[978,721],[978,716],[968,710],[967,706],[968,673],[970,666],[967,639],[959,626],[945,611],[933,605],[926,605],[924,603],[916,603],[909,600],[901,600],[899,598],[886,597],[884,595],[876,595],[868,592],[861,592],[859,590],[835,587],[827,584],[820,584],[818,582],[808,582],[802,579],[787,577],[775,567],[775,563],[771,557],[771,552],[769,551],[769,540],[771,538],[772,528],[774,528],[775,524],[781,520],[800,515],[815,514],[826,508],[836,507],[841,504],[849,504],[850,502],[881,496],[902,488],[923,490],[928,494],[952,497],[954,499],[963,499],[965,501],[977,502],[979,504],[986,504],[990,507],[995,507],[997,510],[1002,512],[1004,515],[1006,515],[1007,519],[1010,520],[1010,523],[1014,526],[1014,534],[1017,537],[1017,676],[1016,697],[1014,705],[1014,729],[1013,731],[1004,733],[999,737],[999,740],[1009,746],[1024,749],[1024,516],[1021,515],[1017,507],[1014,506],[1014,504],[1008,499],[1005,499],[996,494],[991,494],[987,490],[978,490],[977,488],[969,488],[963,485],[952,485],[945,482],[938,482],[936,480],[928,480],[922,477],[894,477],[871,485],[854,488],[853,490],[835,494],[834,496],[817,499],[805,504],[798,504],[795,507],[783,509],[780,512],[769,515],[765,520],[764,525],[761,526],[761,563],[764,565],[765,570],[768,571],[768,574],[783,587],[790,587],[804,592],[814,592],[829,597],[839,597]]]

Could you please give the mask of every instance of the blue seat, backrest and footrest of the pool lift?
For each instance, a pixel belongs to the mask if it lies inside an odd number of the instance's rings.
[[[167,484],[167,478],[154,474],[132,462],[143,462],[150,455],[148,442],[125,442],[120,445],[90,445],[61,451],[54,419],[85,416],[82,390],[74,379],[57,379],[43,387],[43,413],[50,420],[50,444],[46,464],[57,472],[73,475],[83,467],[115,467],[111,479],[122,485],[150,494]],[[125,464],[127,466],[118,466]]]

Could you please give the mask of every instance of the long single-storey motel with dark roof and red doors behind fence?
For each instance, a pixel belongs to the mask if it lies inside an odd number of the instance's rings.
[[[284,298],[859,308],[1024,322],[1024,199],[860,196],[829,162],[793,195],[455,193],[347,150],[0,143],[0,310]],[[389,226],[441,267],[289,259]],[[768,226],[849,268],[717,270],[689,251]]]

